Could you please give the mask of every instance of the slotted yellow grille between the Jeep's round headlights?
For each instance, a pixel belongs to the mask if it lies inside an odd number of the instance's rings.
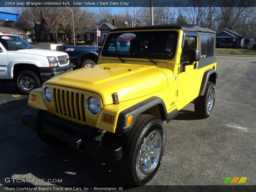
[[[66,91],[64,89],[53,89],[53,100],[56,114],[66,119],[73,119],[80,122],[85,121],[84,94]]]

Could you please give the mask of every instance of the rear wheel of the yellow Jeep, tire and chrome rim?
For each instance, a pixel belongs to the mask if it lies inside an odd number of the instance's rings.
[[[209,117],[215,103],[215,84],[208,82],[204,95],[197,97],[194,103],[195,113],[198,117]]]

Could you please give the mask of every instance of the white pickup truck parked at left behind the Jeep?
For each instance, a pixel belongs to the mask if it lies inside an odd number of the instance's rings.
[[[35,49],[20,36],[0,33],[0,82],[14,81],[20,92],[27,94],[72,70],[67,53]]]

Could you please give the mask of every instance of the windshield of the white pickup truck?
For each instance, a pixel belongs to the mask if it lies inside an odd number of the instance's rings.
[[[34,48],[27,41],[20,36],[0,36],[0,42],[7,51],[17,51],[20,49],[32,49]]]

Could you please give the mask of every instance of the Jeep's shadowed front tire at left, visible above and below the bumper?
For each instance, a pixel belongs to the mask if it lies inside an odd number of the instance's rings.
[[[39,111],[37,113],[37,119],[40,121],[45,113],[47,113],[47,111],[39,109]],[[46,135],[42,132],[37,132],[37,135],[45,144],[50,145],[52,147],[65,147],[68,145],[67,143],[64,143],[63,141],[55,139],[55,138],[53,138],[49,135]]]

